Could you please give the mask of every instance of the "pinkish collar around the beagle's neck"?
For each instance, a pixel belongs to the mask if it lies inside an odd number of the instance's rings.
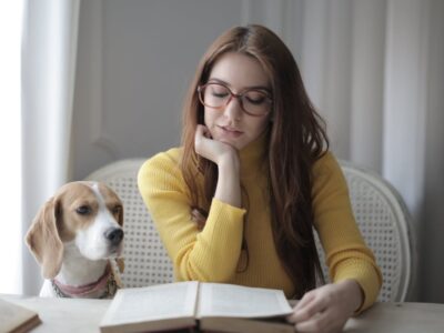
[[[112,274],[110,264],[107,265],[103,275],[99,278],[99,280],[95,282],[79,286],[72,286],[60,283],[56,279],[52,279],[51,285],[59,297],[71,299],[88,297],[89,294],[95,293],[101,290],[103,290],[103,293],[99,296],[99,299],[107,299],[114,296],[118,290],[118,284],[114,280],[114,275]]]

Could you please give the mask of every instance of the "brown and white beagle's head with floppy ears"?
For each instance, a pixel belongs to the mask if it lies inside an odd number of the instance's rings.
[[[73,242],[90,260],[117,258],[123,248],[123,205],[107,185],[71,182],[39,210],[26,242],[46,279],[62,265],[63,243]]]

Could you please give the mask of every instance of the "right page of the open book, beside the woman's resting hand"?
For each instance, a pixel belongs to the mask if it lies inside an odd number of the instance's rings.
[[[269,317],[292,309],[283,291],[233,284],[201,283],[198,316]]]

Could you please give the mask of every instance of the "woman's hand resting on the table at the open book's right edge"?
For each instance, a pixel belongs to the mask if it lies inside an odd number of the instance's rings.
[[[342,332],[362,302],[363,292],[357,282],[344,280],[307,292],[287,320],[297,332]]]

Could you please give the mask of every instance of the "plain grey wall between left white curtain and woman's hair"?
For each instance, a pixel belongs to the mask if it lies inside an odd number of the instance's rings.
[[[241,2],[83,1],[73,178],[178,145],[181,105],[209,44],[241,20]]]

